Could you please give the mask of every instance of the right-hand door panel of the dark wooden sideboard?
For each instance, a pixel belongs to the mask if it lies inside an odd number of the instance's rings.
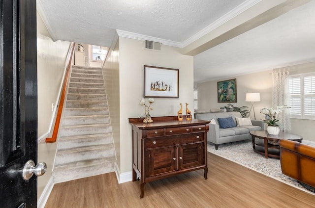
[[[203,144],[202,142],[178,147],[179,169],[205,164]]]

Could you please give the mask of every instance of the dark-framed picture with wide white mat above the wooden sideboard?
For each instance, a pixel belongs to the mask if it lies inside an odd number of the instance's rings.
[[[178,69],[144,65],[145,98],[178,98]]]

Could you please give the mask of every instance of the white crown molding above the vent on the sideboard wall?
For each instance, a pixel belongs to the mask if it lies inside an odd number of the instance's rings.
[[[136,40],[150,40],[150,41],[158,42],[158,43],[161,43],[161,44],[167,45],[167,46],[174,46],[174,47],[178,47],[178,48],[183,48],[183,43],[176,42],[176,41],[170,41],[170,40],[166,40],[166,39],[162,39],[162,38],[157,38],[157,37],[153,37],[153,36],[149,36],[149,35],[142,35],[142,34],[138,34],[138,33],[134,33],[134,32],[128,32],[128,31],[124,31],[124,30],[120,30],[120,29],[116,29],[116,32],[117,32],[119,37],[132,38],[132,39],[136,39]]]

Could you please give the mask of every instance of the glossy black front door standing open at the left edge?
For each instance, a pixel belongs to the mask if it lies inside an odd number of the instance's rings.
[[[0,207],[36,208],[37,163],[36,1],[0,0]]]

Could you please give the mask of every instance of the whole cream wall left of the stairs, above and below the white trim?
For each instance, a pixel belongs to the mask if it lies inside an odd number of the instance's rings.
[[[47,164],[46,173],[37,179],[38,198],[51,178],[57,144],[46,144],[44,139],[51,129],[54,113],[52,104],[57,106],[57,99],[65,72],[65,59],[70,42],[54,42],[37,13],[37,96],[38,96],[38,161]]]

